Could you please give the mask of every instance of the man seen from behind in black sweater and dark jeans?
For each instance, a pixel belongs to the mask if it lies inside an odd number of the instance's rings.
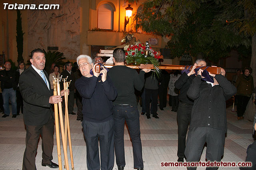
[[[113,52],[115,66],[108,72],[114,86],[118,92],[114,100],[113,117],[115,129],[115,152],[118,170],[123,170],[125,166],[124,158],[124,121],[128,125],[130,137],[132,139],[134,168],[143,170],[142,147],[140,140],[140,116],[137,109],[134,87],[141,90],[144,86],[144,74],[150,69],[136,70],[124,65],[125,52],[123,49],[115,49]]]

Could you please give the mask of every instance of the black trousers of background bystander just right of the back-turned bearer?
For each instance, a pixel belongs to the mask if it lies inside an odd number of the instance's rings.
[[[145,89],[145,98],[146,98],[146,115],[151,114],[156,115],[157,112],[157,95],[158,89]],[[152,97],[151,107],[150,107],[150,97]]]

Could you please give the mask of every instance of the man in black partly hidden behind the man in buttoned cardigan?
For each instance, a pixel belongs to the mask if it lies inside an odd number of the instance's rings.
[[[192,80],[196,77],[194,75],[194,69],[196,66],[206,66],[204,59],[197,59],[193,68],[189,73],[184,72],[180,78],[175,82],[175,88],[180,89],[178,106],[177,121],[178,121],[178,162],[184,161],[184,151],[186,147],[186,134],[188,131],[188,125],[191,117],[191,110],[193,106],[193,100],[188,98],[187,91],[192,83]]]

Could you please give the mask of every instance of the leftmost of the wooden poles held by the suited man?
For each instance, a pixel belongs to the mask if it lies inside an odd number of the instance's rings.
[[[52,80],[52,82],[53,82],[53,95],[57,96],[55,80]],[[59,127],[58,105],[57,104],[54,104],[54,116],[55,116],[55,130],[56,130],[56,142],[57,142],[59,170],[62,170],[61,152],[60,152],[60,127]]]

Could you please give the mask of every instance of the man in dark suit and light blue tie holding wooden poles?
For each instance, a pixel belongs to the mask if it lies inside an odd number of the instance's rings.
[[[51,104],[62,102],[61,96],[53,96],[48,74],[44,71],[45,56],[41,49],[31,52],[32,63],[21,75],[20,92],[24,100],[24,123],[26,125],[26,149],[22,170],[36,170],[36,149],[42,137],[42,166],[58,168],[52,162],[54,119]]]

